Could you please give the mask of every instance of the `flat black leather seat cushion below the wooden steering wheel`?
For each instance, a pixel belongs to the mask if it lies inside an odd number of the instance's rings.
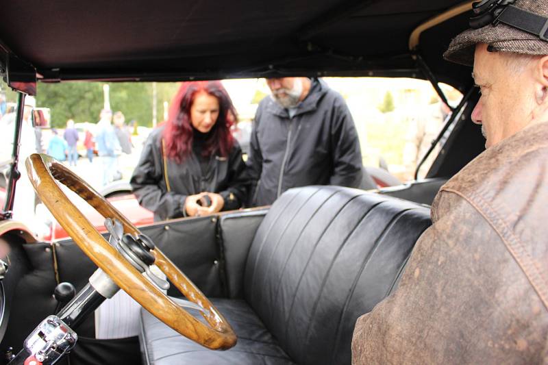
[[[177,299],[174,299],[177,301]],[[294,364],[266,330],[258,316],[242,300],[211,299],[238,336],[227,351],[211,351],[164,325],[141,310],[140,344],[145,364]],[[204,322],[196,310],[188,310]]]

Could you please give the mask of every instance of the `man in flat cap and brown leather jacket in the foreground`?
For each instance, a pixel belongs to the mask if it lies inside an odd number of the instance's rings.
[[[444,56],[473,66],[487,149],[440,189],[399,288],[358,318],[353,364],[548,363],[548,1],[474,10]]]

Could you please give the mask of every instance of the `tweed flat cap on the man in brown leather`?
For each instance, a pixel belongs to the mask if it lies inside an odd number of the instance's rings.
[[[547,0],[516,0],[516,8],[541,16],[548,16]],[[468,29],[456,36],[443,54],[445,60],[473,66],[477,43],[488,44],[490,51],[519,53],[523,55],[548,55],[548,42],[520,29],[499,23],[479,29]]]

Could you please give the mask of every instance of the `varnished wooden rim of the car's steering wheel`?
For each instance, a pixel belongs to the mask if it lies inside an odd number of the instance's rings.
[[[74,242],[101,270],[127,294],[163,323],[209,349],[229,349],[236,344],[236,334],[223,315],[171,260],[156,247],[150,253],[154,263],[185,297],[199,305],[208,325],[188,314],[158,287],[139,273],[134,266],[112,247],[86,217],[66,197],[55,180],[64,184],[87,201],[104,217],[117,219],[124,233],[137,236],[138,229],[112,206],[101,194],[75,173],[48,155],[34,153],[25,161],[29,179],[42,202]]]

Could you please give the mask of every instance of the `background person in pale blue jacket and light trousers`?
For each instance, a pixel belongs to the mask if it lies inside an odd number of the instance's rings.
[[[101,110],[101,120],[97,123],[97,153],[103,162],[103,186],[114,181],[118,171],[118,156],[121,153],[118,137],[114,128],[110,124],[112,121],[112,111],[108,109]]]

